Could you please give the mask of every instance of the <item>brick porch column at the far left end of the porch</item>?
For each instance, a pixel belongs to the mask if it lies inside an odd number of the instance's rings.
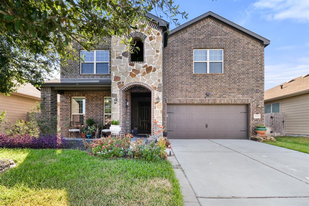
[[[50,87],[41,88],[41,119],[57,133],[57,91]]]

